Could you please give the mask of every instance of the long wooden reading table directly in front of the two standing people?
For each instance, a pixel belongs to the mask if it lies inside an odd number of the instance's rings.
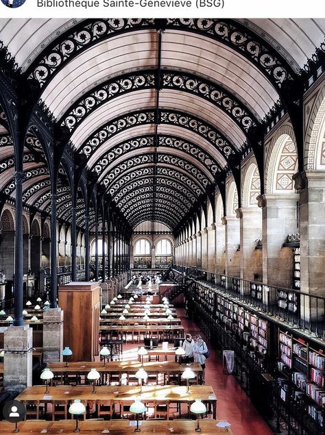
[[[174,375],[178,377],[178,382],[181,381],[181,375],[186,367],[191,367],[191,370],[196,373],[197,376],[197,384],[200,382],[200,377],[202,374],[202,367],[198,362],[192,362],[191,364],[179,364],[178,362],[173,361],[154,361],[154,362],[137,362],[137,361],[110,361],[106,362],[104,366],[103,362],[69,362],[69,365],[66,366],[65,362],[50,362],[47,364],[49,369],[56,376],[61,377],[61,382],[64,383],[69,381],[69,375],[76,375],[80,382],[85,382],[86,375],[91,369],[96,369],[101,374],[101,384],[106,382],[110,383],[110,375],[119,375],[119,384],[121,385],[121,377],[123,373],[127,375],[127,383],[129,383],[129,375],[132,375],[138,371],[141,366],[148,373],[148,375],[155,375],[156,382],[158,384],[158,374],[163,373],[164,375],[164,384],[166,380],[169,379],[169,376]]]

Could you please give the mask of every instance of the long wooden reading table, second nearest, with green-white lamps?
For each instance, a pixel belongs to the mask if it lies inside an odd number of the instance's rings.
[[[36,419],[39,418],[40,403],[70,403],[74,399],[80,399],[82,402],[92,407],[93,403],[106,403],[110,406],[110,418],[112,418],[113,406],[119,404],[121,414],[123,406],[129,405],[135,399],[141,399],[143,403],[153,404],[156,409],[157,404],[167,406],[167,418],[169,416],[170,403],[188,403],[201,399],[210,404],[213,408],[213,419],[217,417],[217,397],[212,386],[193,385],[186,393],[186,386],[168,386],[168,385],[148,385],[139,386],[97,386],[96,393],[92,393],[92,386],[50,386],[49,393],[45,395],[45,386],[29,386],[16,397],[27,404],[36,406]]]

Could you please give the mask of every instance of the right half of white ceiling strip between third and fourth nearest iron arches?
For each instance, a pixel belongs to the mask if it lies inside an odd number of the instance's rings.
[[[171,136],[176,136],[180,139],[189,140],[193,144],[197,144],[199,147],[210,153],[210,155],[215,158],[221,167],[226,166],[226,160],[221,155],[219,149],[217,149],[217,147],[213,147],[208,140],[204,139],[199,134],[193,133],[190,130],[186,130],[182,127],[177,127],[176,125],[164,124],[158,125],[158,134],[170,134]]]

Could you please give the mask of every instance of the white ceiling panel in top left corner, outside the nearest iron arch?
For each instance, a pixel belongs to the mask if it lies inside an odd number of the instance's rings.
[[[0,40],[25,71],[36,56],[58,35],[84,18],[14,18],[0,19]]]

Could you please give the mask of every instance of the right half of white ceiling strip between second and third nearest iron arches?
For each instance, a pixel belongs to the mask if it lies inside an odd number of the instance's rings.
[[[162,90],[159,96],[159,105],[160,108],[180,110],[207,121],[213,127],[217,127],[227,138],[230,138],[237,149],[246,140],[245,134],[229,116],[200,97],[177,90]]]

